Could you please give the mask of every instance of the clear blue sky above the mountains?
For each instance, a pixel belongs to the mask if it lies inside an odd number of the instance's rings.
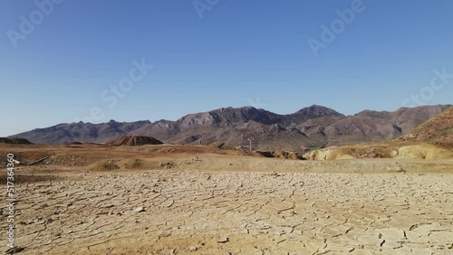
[[[433,70],[453,74],[448,0],[363,0],[314,56],[308,40],[322,42],[321,26],[353,2],[220,0],[200,18],[192,1],[65,0],[14,48],[21,15],[40,22],[41,11],[34,1],[2,0],[0,136],[73,122],[93,107],[103,114],[94,122],[251,104],[277,113],[313,104],[344,114],[395,110],[430,86]],[[110,108],[102,91],[142,59],[154,68]],[[424,102],[452,103],[447,82]]]

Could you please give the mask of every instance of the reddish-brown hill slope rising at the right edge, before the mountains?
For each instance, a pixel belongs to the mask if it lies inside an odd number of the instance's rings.
[[[453,147],[453,107],[416,127],[401,141],[428,142]]]

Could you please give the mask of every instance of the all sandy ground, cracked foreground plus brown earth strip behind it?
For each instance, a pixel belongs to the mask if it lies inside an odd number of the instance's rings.
[[[199,146],[0,153],[51,156],[16,168],[19,254],[453,254],[452,160],[295,161]]]

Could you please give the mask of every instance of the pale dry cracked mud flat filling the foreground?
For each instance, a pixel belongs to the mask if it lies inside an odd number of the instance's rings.
[[[71,176],[17,185],[19,254],[453,254],[449,174]]]

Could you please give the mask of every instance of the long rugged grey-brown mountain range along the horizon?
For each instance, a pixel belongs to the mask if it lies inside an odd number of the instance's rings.
[[[304,151],[307,148],[352,145],[392,140],[410,133],[451,105],[401,108],[396,111],[363,110],[353,116],[313,105],[280,115],[253,107],[222,108],[188,114],[176,121],[71,123],[37,128],[12,137],[36,144],[71,142],[105,143],[122,136],[156,137],[165,143],[226,143],[246,146],[254,137],[258,149]]]

